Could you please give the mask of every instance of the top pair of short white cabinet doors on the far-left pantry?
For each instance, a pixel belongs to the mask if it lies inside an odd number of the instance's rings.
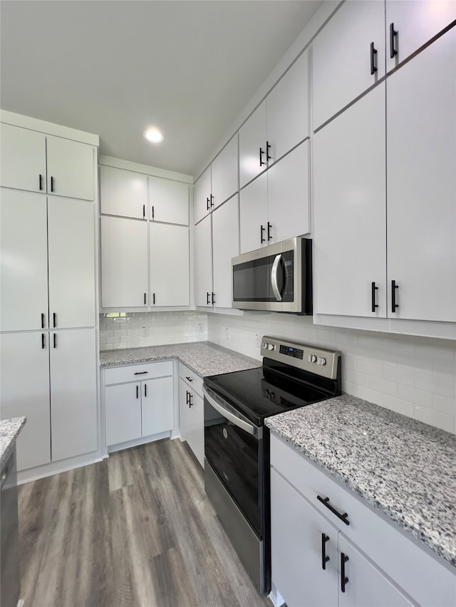
[[[1,125],[1,185],[94,200],[94,154],[92,145]]]

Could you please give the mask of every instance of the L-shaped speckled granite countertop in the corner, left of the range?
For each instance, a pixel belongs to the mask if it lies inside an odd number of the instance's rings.
[[[261,361],[244,357],[211,342],[192,342],[100,352],[100,366],[116,366],[177,358],[199,376],[218,375],[261,366]]]

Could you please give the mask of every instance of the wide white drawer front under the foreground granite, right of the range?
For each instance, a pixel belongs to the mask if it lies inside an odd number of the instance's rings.
[[[274,434],[271,434],[271,466],[420,605],[455,604],[456,575],[449,565],[415,544],[411,536],[406,537],[383,514],[371,510],[367,502]],[[344,524],[317,500],[317,495],[328,497],[337,512],[348,513],[350,524]]]

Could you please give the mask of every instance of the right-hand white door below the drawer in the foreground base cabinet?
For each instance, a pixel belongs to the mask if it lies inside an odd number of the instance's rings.
[[[341,533],[338,535],[338,549],[339,593],[338,603],[333,604],[338,604],[338,607],[411,607],[415,604],[405,598]],[[346,583],[342,592],[343,573]]]

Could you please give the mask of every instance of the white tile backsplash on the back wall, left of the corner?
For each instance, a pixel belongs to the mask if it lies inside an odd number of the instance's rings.
[[[207,315],[199,312],[100,314],[100,349],[207,341]]]

